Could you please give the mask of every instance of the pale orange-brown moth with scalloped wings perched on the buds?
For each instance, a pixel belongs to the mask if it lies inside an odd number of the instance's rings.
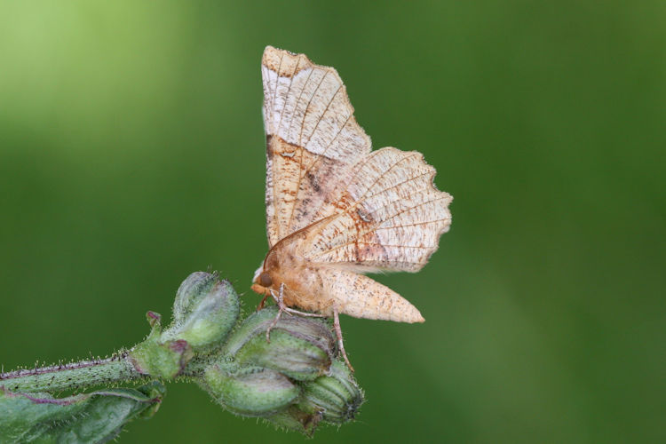
[[[283,312],[423,322],[366,273],[417,272],[451,225],[450,194],[416,151],[372,151],[333,67],[266,47],[261,62],[269,250],[252,289]],[[276,318],[277,320],[277,318]]]

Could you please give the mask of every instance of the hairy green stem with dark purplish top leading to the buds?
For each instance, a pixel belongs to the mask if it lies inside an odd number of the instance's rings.
[[[59,392],[146,377],[134,368],[128,353],[122,352],[106,359],[0,373],[0,386],[12,392]]]

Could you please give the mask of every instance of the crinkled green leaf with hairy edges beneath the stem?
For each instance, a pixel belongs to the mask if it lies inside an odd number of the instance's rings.
[[[165,392],[156,381],[67,398],[0,386],[0,442],[107,442],[132,419],[153,416]]]

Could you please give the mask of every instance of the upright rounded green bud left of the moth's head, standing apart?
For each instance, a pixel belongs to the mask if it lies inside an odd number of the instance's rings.
[[[217,348],[233,329],[240,312],[238,295],[217,274],[194,273],[180,285],[173,305],[173,323],[163,341],[182,339],[195,352]]]

